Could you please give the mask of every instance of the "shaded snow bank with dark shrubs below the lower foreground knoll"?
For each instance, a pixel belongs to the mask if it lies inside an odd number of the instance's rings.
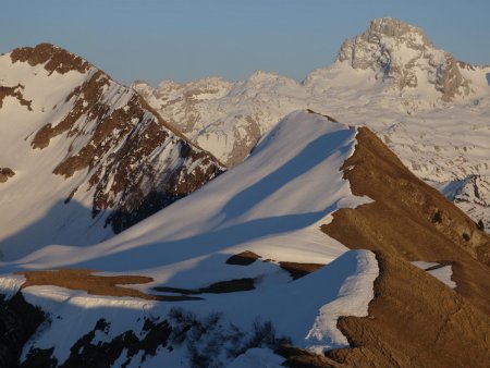
[[[287,282],[285,277],[283,280],[277,278],[269,284],[257,285],[254,291],[201,295],[204,299],[195,302],[109,298],[54,286],[28,287],[23,292],[26,300],[48,311],[50,321],[24,347],[23,359],[35,348],[54,347],[52,356],[59,364],[65,363],[72,346],[94,330],[100,319],[108,327],[96,333],[90,341],[93,344],[111,342],[125,331],[133,331],[142,338],[146,334],[146,320],[154,323],[170,320],[170,326],[176,330],[183,328],[177,324],[182,321],[172,318],[173,314],[181,310],[188,318],[203,323],[219,316],[215,321],[218,323],[207,328],[197,346],[200,354],[209,354],[210,360],[217,366],[233,360],[237,356],[230,353],[233,349],[241,354],[246,352],[247,343],[254,338],[254,329],[259,323],[270,322],[278,341],[289,341],[294,346],[321,354],[323,349],[348,346],[346,338],[336,329],[336,320],[341,316],[367,316],[368,304],[373,297],[372,283],[377,275],[375,255],[357,250],[347,252],[330,265],[294,282]],[[262,324],[262,328],[267,329],[267,324]],[[234,336],[233,333],[237,335]],[[161,367],[171,363],[172,366],[191,365],[188,358],[192,352],[185,345],[172,344],[172,338],[169,340],[169,345],[175,346],[175,351],[164,348],[168,346],[160,347],[151,358],[154,363],[147,363],[144,367]],[[264,347],[275,347],[273,341],[270,345],[267,341],[260,343]],[[212,346],[213,344],[218,346]],[[123,354],[120,361],[125,358]],[[140,356],[133,358],[135,366]]]

